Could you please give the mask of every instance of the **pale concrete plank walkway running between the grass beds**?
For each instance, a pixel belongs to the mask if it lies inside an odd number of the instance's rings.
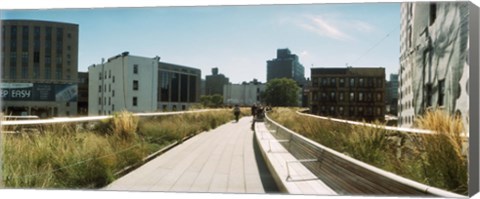
[[[203,132],[104,190],[209,193],[276,193],[258,146],[252,117]]]

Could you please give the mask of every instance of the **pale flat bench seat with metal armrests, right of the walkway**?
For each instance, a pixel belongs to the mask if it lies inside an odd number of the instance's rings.
[[[282,192],[290,194],[337,195],[323,181],[310,172],[302,162],[317,161],[312,159],[296,159],[282,142],[277,140],[263,122],[255,122],[255,139],[263,158]]]

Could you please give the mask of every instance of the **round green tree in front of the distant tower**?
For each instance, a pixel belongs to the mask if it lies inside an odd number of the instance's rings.
[[[271,106],[298,106],[299,92],[300,87],[292,79],[272,79],[267,82],[262,98]]]

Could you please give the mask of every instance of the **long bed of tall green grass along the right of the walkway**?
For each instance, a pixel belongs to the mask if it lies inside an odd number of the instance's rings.
[[[417,118],[435,135],[413,135],[301,116],[276,108],[269,116],[324,146],[400,176],[467,194],[467,158],[462,154],[462,122],[441,111]],[[376,122],[376,125],[383,125]]]

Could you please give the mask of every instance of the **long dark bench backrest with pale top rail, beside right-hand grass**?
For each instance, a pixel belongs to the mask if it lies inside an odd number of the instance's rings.
[[[351,158],[285,128],[268,116],[265,117],[265,124],[269,130],[274,131],[272,135],[277,139],[290,138],[290,142],[282,143],[285,148],[298,160],[308,160],[302,164],[339,194],[467,197]],[[312,161],[313,159],[317,161]]]

